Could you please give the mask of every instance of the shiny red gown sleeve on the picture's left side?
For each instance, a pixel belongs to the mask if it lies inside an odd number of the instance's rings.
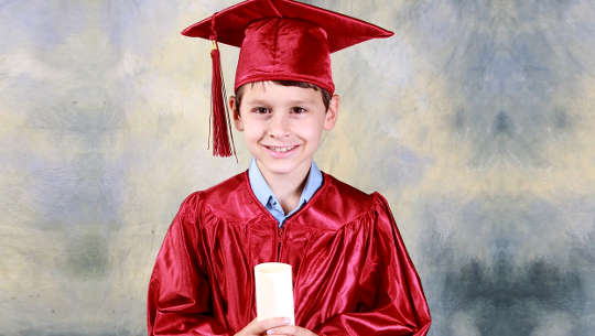
[[[199,193],[180,206],[155,260],[148,293],[149,336],[230,335],[213,314],[199,253]]]

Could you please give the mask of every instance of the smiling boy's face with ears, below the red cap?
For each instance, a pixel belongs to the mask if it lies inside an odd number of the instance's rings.
[[[332,130],[338,111],[338,96],[325,109],[321,91],[283,86],[272,82],[246,85],[239,111],[235,100],[236,129],[244,132],[248,151],[268,174],[307,172],[323,130]]]

